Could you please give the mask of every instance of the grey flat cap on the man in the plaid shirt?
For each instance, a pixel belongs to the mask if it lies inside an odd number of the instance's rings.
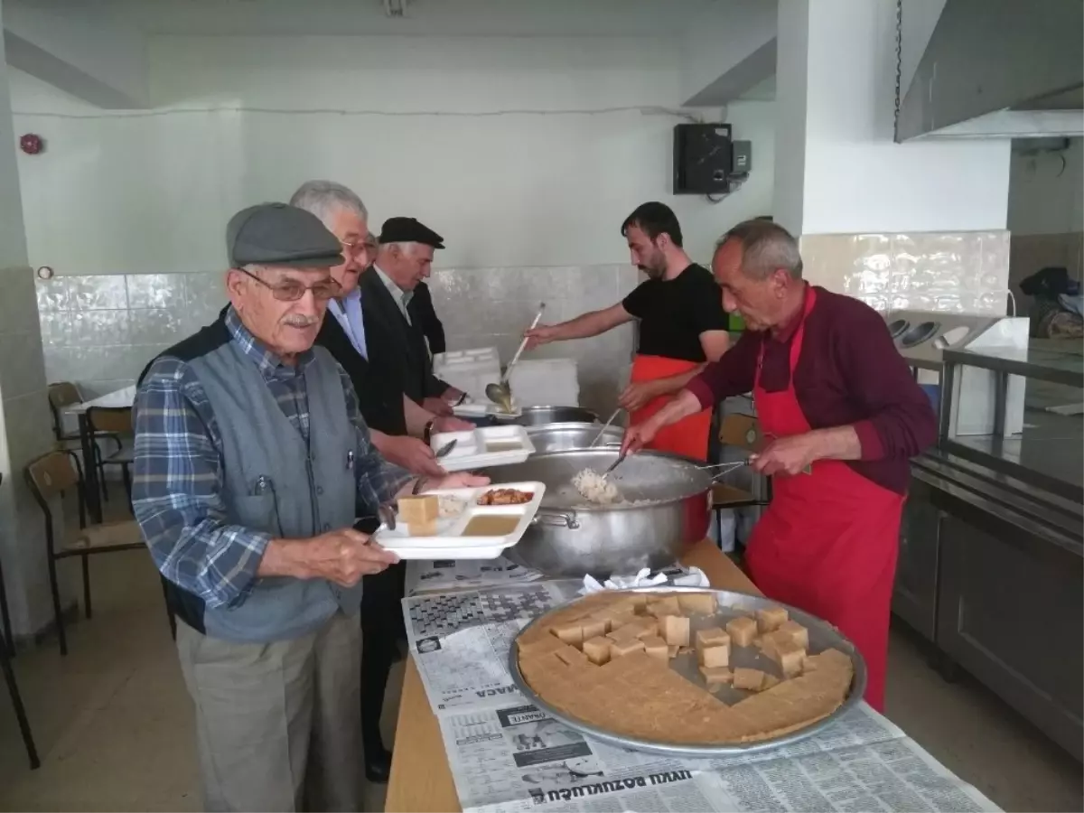
[[[320,218],[280,203],[249,206],[230,218],[225,253],[232,268],[332,268],[343,262],[341,245]]]

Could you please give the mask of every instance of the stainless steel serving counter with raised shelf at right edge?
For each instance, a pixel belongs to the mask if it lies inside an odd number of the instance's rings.
[[[958,431],[971,369],[993,373],[985,435]],[[939,442],[912,465],[892,608],[946,676],[959,664],[1084,761],[1084,415],[1049,412],[1038,383],[1084,401],[1084,358],[944,352]],[[1019,386],[1023,427],[1009,434]]]

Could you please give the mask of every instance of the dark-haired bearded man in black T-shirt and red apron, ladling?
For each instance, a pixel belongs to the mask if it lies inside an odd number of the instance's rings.
[[[646,203],[621,224],[629,251],[647,280],[617,305],[584,313],[568,322],[527,331],[528,349],[549,341],[597,336],[618,325],[640,321],[636,357],[629,387],[620,396],[632,423],[641,423],[666,405],[706,362],[719,359],[730,345],[727,318],[719,288],[702,266],[682,248],[681,225],[669,206]],[[678,376],[678,377],[675,377]],[[711,410],[662,428],[651,449],[708,459]]]

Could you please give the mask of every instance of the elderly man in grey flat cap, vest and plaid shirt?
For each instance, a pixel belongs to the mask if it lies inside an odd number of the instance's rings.
[[[285,204],[227,228],[230,307],[136,399],[136,517],[180,623],[208,813],[361,809],[361,577],[397,558],[356,517],[426,488],[374,450],[313,347],[339,242]]]

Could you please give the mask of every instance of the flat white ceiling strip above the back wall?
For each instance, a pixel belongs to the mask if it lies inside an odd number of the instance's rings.
[[[68,0],[75,1],[75,0]],[[147,34],[666,36],[733,0],[93,0]]]

